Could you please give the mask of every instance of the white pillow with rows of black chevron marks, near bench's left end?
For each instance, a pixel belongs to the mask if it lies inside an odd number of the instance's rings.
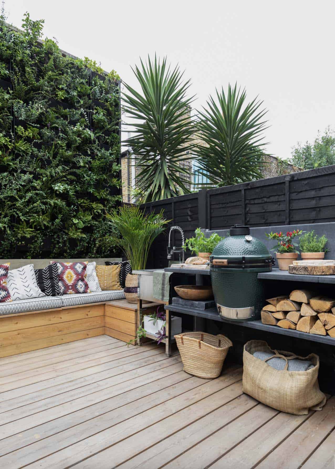
[[[38,287],[33,264],[10,270],[7,277],[7,287],[14,301],[45,296]]]

